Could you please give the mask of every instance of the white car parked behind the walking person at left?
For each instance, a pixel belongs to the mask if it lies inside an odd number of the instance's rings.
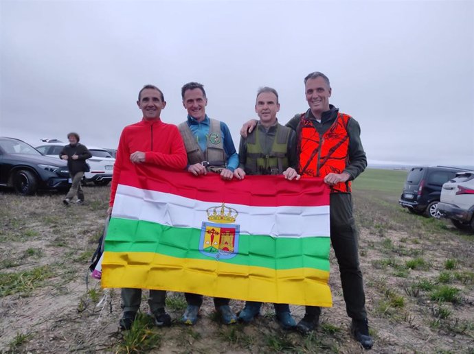
[[[36,146],[36,150],[41,154],[59,158],[59,154],[66,143],[43,143]],[[92,154],[91,158],[86,160],[91,170],[84,173],[85,182],[94,182],[95,185],[108,185],[112,180],[113,164],[115,158],[102,147],[93,147],[86,145]]]

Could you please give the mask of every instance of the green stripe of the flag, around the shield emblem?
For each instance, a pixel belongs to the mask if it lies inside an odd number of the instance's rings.
[[[223,224],[225,227],[225,224]],[[177,258],[206,259],[199,252],[201,230],[113,217],[106,252],[155,252]],[[329,237],[270,237],[240,235],[238,255],[220,262],[275,270],[316,268],[329,271]]]

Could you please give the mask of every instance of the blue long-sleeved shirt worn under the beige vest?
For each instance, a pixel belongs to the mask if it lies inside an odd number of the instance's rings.
[[[193,117],[188,115],[188,120],[186,121],[194,137],[196,138],[199,147],[205,152],[207,148],[207,136],[209,135],[210,130],[210,119],[205,116],[204,120],[201,122],[196,121]],[[238,154],[236,147],[234,146],[234,141],[232,141],[232,135],[230,134],[229,127],[223,121],[221,123],[221,133],[224,145],[224,151],[227,155],[227,169],[234,172],[234,169],[238,167]]]

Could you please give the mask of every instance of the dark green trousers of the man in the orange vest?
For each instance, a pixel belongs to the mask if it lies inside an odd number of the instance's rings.
[[[359,235],[352,215],[350,193],[330,194],[330,237],[339,272],[346,311],[350,318],[367,318],[362,272],[359,267]],[[321,307],[306,306],[306,314],[319,316]]]

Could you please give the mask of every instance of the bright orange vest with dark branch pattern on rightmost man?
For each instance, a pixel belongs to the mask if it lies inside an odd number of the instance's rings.
[[[349,163],[349,119],[349,115],[337,113],[332,126],[324,134],[319,134],[313,121],[306,119],[304,113],[301,115],[297,136],[302,176],[324,178],[330,173],[343,172]],[[350,181],[339,182],[330,189],[331,193],[350,193]]]

